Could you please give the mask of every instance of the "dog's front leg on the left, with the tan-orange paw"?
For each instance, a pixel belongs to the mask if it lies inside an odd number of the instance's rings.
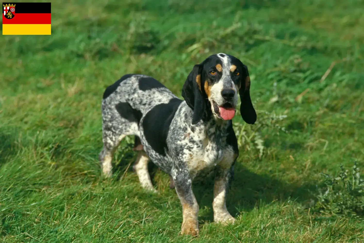
[[[172,178],[182,204],[182,235],[198,235],[198,204],[192,191],[192,180],[185,168],[172,170]]]

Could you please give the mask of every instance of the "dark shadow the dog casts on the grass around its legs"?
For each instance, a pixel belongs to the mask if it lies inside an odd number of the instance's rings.
[[[137,153],[132,151],[132,145],[125,147],[126,151],[119,162],[115,166],[114,172],[117,173],[116,180],[124,174],[127,165],[130,163],[128,172],[132,171],[132,165]],[[158,167],[154,163],[149,163],[149,173],[154,183],[154,175],[158,171]],[[254,207],[270,204],[273,201],[285,201],[288,199],[298,202],[306,202],[311,198],[309,191],[314,191],[316,184],[305,184],[298,186],[287,184],[279,179],[275,179],[270,175],[258,175],[249,171],[245,166],[236,163],[234,166],[234,180],[231,184],[226,197],[226,206],[228,211],[234,217],[240,212],[249,212]],[[209,208],[209,210],[201,210],[199,220],[203,222],[213,222],[213,188],[214,176],[197,178],[193,183],[193,191],[200,209]],[[171,189],[174,191],[174,189]]]

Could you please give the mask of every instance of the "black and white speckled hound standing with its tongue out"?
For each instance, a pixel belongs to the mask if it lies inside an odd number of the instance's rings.
[[[157,80],[127,74],[106,88],[102,100],[103,150],[99,154],[105,176],[111,176],[111,160],[120,141],[135,135],[139,150],[134,169],[143,188],[155,191],[148,172],[152,160],[171,176],[182,203],[182,234],[198,235],[199,206],[192,181],[215,173],[214,221],[234,223],[225,196],[238,144],[231,119],[238,94],[240,113],[248,124],[257,115],[250,100],[248,68],[237,58],[219,53],[195,65],[178,99]]]

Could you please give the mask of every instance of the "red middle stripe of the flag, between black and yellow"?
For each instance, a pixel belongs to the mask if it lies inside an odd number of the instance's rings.
[[[4,11],[4,10],[3,10]],[[51,24],[50,13],[16,13],[12,19],[3,15],[3,24]]]

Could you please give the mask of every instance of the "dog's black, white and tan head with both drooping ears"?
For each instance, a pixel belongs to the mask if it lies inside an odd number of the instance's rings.
[[[254,124],[257,114],[249,89],[248,67],[233,56],[219,53],[193,67],[183,85],[182,96],[193,110],[192,124],[196,124],[206,109],[210,109],[216,120],[231,120],[235,115],[239,93],[241,116],[246,123]]]

